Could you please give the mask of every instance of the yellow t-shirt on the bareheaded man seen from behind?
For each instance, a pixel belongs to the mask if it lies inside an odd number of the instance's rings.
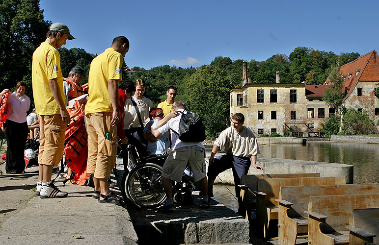
[[[85,114],[113,111],[108,93],[108,80],[122,79],[121,67],[122,55],[113,48],[106,49],[92,60],[89,68]]]

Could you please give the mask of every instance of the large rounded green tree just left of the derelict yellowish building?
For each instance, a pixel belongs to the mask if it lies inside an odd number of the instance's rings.
[[[225,128],[232,83],[224,70],[213,65],[200,67],[188,81],[189,110],[199,113],[208,136]]]

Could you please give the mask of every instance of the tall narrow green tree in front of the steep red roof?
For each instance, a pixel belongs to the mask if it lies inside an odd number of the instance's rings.
[[[336,109],[342,104],[345,97],[344,81],[342,80],[342,73],[340,67],[335,68],[329,75],[329,85],[324,90],[324,100],[326,103]]]

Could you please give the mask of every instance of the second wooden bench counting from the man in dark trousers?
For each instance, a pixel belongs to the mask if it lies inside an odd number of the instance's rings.
[[[281,186],[341,185],[346,184],[345,177],[305,177],[258,179],[257,218],[258,231],[269,237],[270,223],[278,220],[278,199]],[[278,236],[277,224],[272,226],[272,236]]]

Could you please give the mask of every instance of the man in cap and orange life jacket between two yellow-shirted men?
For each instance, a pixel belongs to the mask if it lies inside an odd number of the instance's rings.
[[[66,106],[71,99],[84,95],[83,88],[81,87],[81,79],[83,77],[84,71],[80,66],[74,66],[70,73],[68,73],[68,77],[63,77],[63,92]]]

